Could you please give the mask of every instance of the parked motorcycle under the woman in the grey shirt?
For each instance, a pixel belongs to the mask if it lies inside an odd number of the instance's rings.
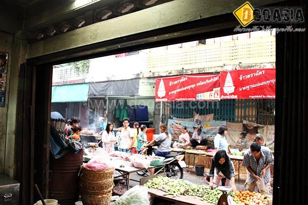
[[[183,161],[185,155],[183,154],[168,154],[165,156],[165,159],[163,161],[163,165],[165,167],[163,168],[156,168],[155,174],[166,172],[167,177],[169,178],[183,178],[183,168],[186,167],[185,161]],[[144,176],[147,175],[148,171],[140,171],[137,172],[138,175]]]

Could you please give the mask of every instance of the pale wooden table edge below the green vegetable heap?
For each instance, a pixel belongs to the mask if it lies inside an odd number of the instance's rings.
[[[148,194],[151,195],[151,196],[155,196],[155,197],[158,197],[158,198],[165,199],[165,200],[179,202],[179,203],[187,204],[187,205],[213,205],[213,203],[201,201],[200,197],[194,197],[194,196],[178,196],[178,197],[164,196],[165,192],[158,190],[158,189],[148,189]]]

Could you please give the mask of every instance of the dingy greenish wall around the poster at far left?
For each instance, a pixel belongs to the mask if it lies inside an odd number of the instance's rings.
[[[16,174],[15,129],[19,68],[26,59],[27,44],[20,35],[0,33],[0,51],[9,53],[6,106],[0,108],[0,173],[11,178]],[[10,116],[10,117],[8,117]]]

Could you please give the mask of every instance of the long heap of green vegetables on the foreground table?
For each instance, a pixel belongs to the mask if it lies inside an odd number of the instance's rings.
[[[160,189],[165,191],[165,195],[177,197],[180,195],[197,196],[200,200],[217,204],[221,192],[217,189],[209,189],[205,185],[196,185],[183,179],[170,179],[158,176],[145,183],[144,187]]]

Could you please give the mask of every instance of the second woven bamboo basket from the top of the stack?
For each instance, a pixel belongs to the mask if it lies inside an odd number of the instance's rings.
[[[80,190],[84,194],[106,194],[113,189],[113,179],[105,181],[86,181],[81,180]]]

